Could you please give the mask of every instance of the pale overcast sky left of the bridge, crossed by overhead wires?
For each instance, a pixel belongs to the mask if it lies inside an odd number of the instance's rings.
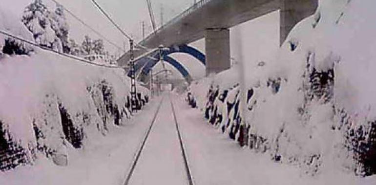
[[[123,46],[125,43],[125,47],[128,47],[128,41],[111,23],[108,22],[107,19],[104,18],[91,0],[58,1],[91,25],[94,29],[106,35],[111,41],[116,42],[120,46]],[[115,22],[117,22],[126,33],[133,36],[136,41],[139,41],[142,37],[142,21],[144,21],[146,25],[146,35],[152,31],[146,0],[97,0],[97,2],[115,20]],[[154,17],[159,26],[161,22],[161,7],[163,7],[163,19],[164,22],[166,22],[187,9],[192,4],[193,0],[151,0],[151,2]],[[72,17],[68,16],[68,19],[70,19],[72,27],[70,32],[71,37],[80,38],[87,34],[87,32],[91,33]],[[80,27],[81,29],[77,29]],[[90,35],[96,37],[94,33],[91,33]]]

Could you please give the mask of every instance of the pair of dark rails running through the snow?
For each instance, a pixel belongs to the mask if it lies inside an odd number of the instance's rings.
[[[159,103],[158,105],[158,108],[153,116],[153,119],[151,120],[151,123],[150,123],[150,126],[148,127],[147,131],[146,131],[146,134],[144,136],[144,139],[141,143],[141,146],[140,148],[137,149],[137,151],[135,152],[135,158],[130,166],[130,169],[128,171],[128,173],[126,174],[126,178],[125,178],[125,182],[123,185],[130,185],[131,182],[131,178],[132,178],[132,175],[134,173],[134,170],[138,164],[138,161],[140,159],[140,156],[142,155],[144,149],[146,148],[146,142],[149,138],[149,135],[150,135],[150,132],[151,130],[153,129],[153,125],[155,124],[156,122],[156,118],[160,112],[160,108],[162,106],[162,104],[164,103],[164,99],[165,97],[162,98],[161,102]],[[179,144],[180,144],[180,150],[181,150],[181,155],[183,157],[183,163],[184,163],[184,167],[185,167],[185,171],[186,171],[186,176],[187,176],[187,180],[188,180],[188,185],[194,185],[194,182],[193,182],[193,178],[192,178],[192,174],[191,174],[191,171],[190,171],[190,168],[189,168],[189,163],[188,163],[188,157],[187,157],[187,152],[186,152],[186,149],[184,147],[184,141],[183,141],[183,138],[182,138],[182,134],[180,132],[180,128],[179,128],[179,123],[177,121],[177,118],[176,118],[176,111],[175,111],[175,107],[173,105],[173,102],[170,98],[170,96],[168,95],[168,99],[169,99],[169,103],[171,105],[171,108],[172,108],[172,114],[173,114],[173,120],[174,120],[174,125],[176,127],[176,132],[177,132],[177,135],[178,135],[178,140],[179,140]]]

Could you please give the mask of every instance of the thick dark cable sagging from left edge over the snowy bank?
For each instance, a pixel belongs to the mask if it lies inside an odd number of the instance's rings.
[[[117,69],[125,69],[124,67],[119,67],[119,66],[109,66],[109,65],[104,65],[104,64],[99,64],[99,63],[94,63],[94,62],[91,62],[89,60],[85,60],[83,58],[78,58],[78,57],[75,57],[75,56],[71,56],[71,55],[68,55],[68,54],[64,54],[64,53],[61,53],[61,52],[57,52],[51,48],[48,48],[46,46],[42,46],[40,44],[37,44],[35,42],[32,42],[32,41],[29,41],[29,40],[26,40],[26,39],[23,39],[21,37],[17,37],[17,36],[14,36],[12,34],[9,34],[7,32],[4,32],[2,30],[0,30],[0,34],[2,35],[5,35],[5,36],[8,36],[8,37],[12,37],[12,38],[15,38],[15,39],[18,39],[18,40],[21,40],[22,42],[26,42],[30,45],[33,45],[33,46],[36,46],[36,47],[39,47],[39,48],[42,48],[43,50],[47,50],[47,51],[50,51],[50,52],[53,52],[55,54],[58,54],[58,55],[61,55],[61,56],[65,56],[65,57],[68,57],[68,58],[71,58],[71,59],[74,59],[74,60],[77,60],[77,61],[80,61],[80,62],[83,62],[83,63],[87,63],[87,64],[91,64],[91,65],[96,65],[96,66],[101,66],[101,67],[106,67],[106,68],[117,68]]]

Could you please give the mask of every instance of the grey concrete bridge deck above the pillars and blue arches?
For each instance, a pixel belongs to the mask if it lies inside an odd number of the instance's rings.
[[[280,8],[280,0],[201,0],[140,42],[147,48],[187,44],[204,38],[207,28],[230,28]],[[140,56],[145,51],[135,52]],[[125,64],[128,54],[118,63]]]

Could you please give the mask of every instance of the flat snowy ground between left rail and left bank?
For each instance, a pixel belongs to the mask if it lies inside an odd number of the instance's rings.
[[[123,185],[137,149],[161,98],[153,99],[142,113],[107,136],[95,138],[79,151],[69,149],[68,166],[41,158],[33,166],[1,172],[1,185]],[[94,142],[95,141],[95,142]]]

